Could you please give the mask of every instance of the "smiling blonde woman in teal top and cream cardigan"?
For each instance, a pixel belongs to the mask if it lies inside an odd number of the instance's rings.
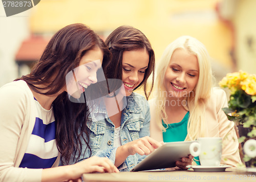
[[[159,61],[156,97],[150,101],[151,137],[157,141],[223,139],[221,164],[241,163],[234,123],[225,116],[224,90],[212,86],[210,57],[196,38],[181,36]],[[198,157],[194,161],[200,165]]]

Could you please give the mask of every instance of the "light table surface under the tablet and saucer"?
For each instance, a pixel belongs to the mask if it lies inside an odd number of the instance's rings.
[[[195,172],[193,169],[165,170],[165,171],[141,171],[141,172],[119,172],[119,173],[91,173],[83,174],[84,182],[145,182],[145,181],[254,181],[255,172],[244,170],[226,169],[223,172]]]

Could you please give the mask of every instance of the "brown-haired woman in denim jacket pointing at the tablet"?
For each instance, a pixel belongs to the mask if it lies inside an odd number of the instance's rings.
[[[146,36],[131,26],[118,27],[105,43],[112,53],[106,78],[122,80],[126,96],[126,107],[109,117],[108,123],[115,131],[115,165],[122,171],[131,170],[145,155],[162,145],[149,137],[150,110],[146,101],[154,84],[155,53]],[[152,85],[147,92],[146,82],[151,74]],[[133,92],[142,86],[146,99]],[[106,108],[109,107],[106,103]]]

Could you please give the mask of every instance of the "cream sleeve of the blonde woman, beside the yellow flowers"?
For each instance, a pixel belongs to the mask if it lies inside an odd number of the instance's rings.
[[[239,143],[234,123],[229,121],[222,108],[227,107],[226,93],[222,89],[214,90],[216,94],[216,109],[219,123],[219,133],[222,138],[221,164],[237,166],[242,163],[239,154]],[[215,95],[214,94],[214,95]]]

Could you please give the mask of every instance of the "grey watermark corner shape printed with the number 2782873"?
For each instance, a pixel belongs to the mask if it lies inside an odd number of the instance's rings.
[[[20,1],[20,0],[2,0],[5,14],[6,16],[12,16],[24,11],[27,11],[34,6],[36,6],[40,0],[27,0],[27,1]]]

